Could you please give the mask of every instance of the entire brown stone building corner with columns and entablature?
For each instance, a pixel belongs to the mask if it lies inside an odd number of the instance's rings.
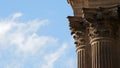
[[[120,68],[120,0],[68,0],[78,68]]]

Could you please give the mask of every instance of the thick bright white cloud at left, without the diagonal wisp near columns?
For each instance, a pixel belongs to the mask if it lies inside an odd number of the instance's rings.
[[[13,18],[22,16],[22,13],[13,14]],[[31,20],[28,22],[16,22],[11,19],[0,21],[0,46],[8,47],[15,45],[16,52],[33,53],[38,48],[49,42],[56,42],[56,39],[47,36],[39,36],[36,32],[47,24],[47,20]]]

